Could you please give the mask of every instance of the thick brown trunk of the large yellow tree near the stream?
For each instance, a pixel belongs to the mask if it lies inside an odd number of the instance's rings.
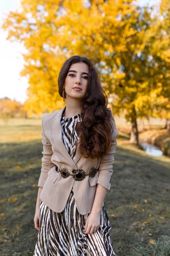
[[[133,105],[133,109],[132,109],[131,124],[132,124],[132,126],[131,126],[132,128],[131,128],[131,132],[130,132],[130,143],[139,145],[135,105]]]

